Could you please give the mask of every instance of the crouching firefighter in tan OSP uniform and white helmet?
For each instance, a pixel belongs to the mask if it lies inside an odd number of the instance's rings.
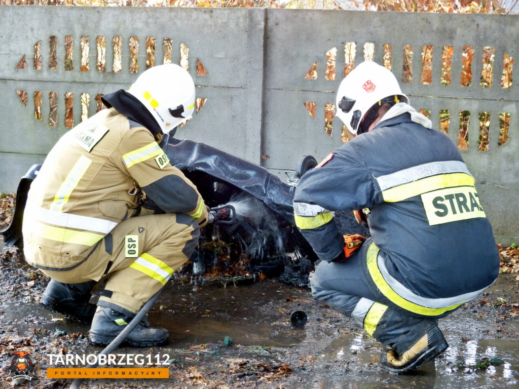
[[[197,188],[159,147],[163,133],[192,117],[189,73],[174,64],[149,68],[103,102],[107,109],[49,152],[23,220],[25,258],[51,278],[41,303],[92,320],[96,344],[110,343],[187,261],[208,217]],[[138,215],[144,198],[161,212]],[[96,309],[89,299],[104,280]],[[142,322],[126,341],[165,344],[168,331]]]

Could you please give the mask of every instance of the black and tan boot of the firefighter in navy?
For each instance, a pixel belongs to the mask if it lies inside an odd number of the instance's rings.
[[[394,374],[416,369],[448,348],[438,319],[411,317],[392,308],[380,318],[373,336],[390,346],[380,355],[380,367]]]

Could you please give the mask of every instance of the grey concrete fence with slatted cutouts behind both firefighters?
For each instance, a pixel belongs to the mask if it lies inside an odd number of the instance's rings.
[[[197,114],[176,137],[284,179],[348,140],[335,92],[354,64],[389,67],[458,144],[503,244],[519,240],[519,17],[285,9],[2,6],[0,191],[147,67],[188,69]],[[413,145],[409,145],[412,152]]]

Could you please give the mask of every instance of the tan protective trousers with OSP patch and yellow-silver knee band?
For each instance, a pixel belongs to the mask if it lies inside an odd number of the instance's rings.
[[[136,216],[121,221],[78,267],[42,271],[66,284],[107,279],[98,305],[133,316],[189,259],[199,235],[188,215]]]

